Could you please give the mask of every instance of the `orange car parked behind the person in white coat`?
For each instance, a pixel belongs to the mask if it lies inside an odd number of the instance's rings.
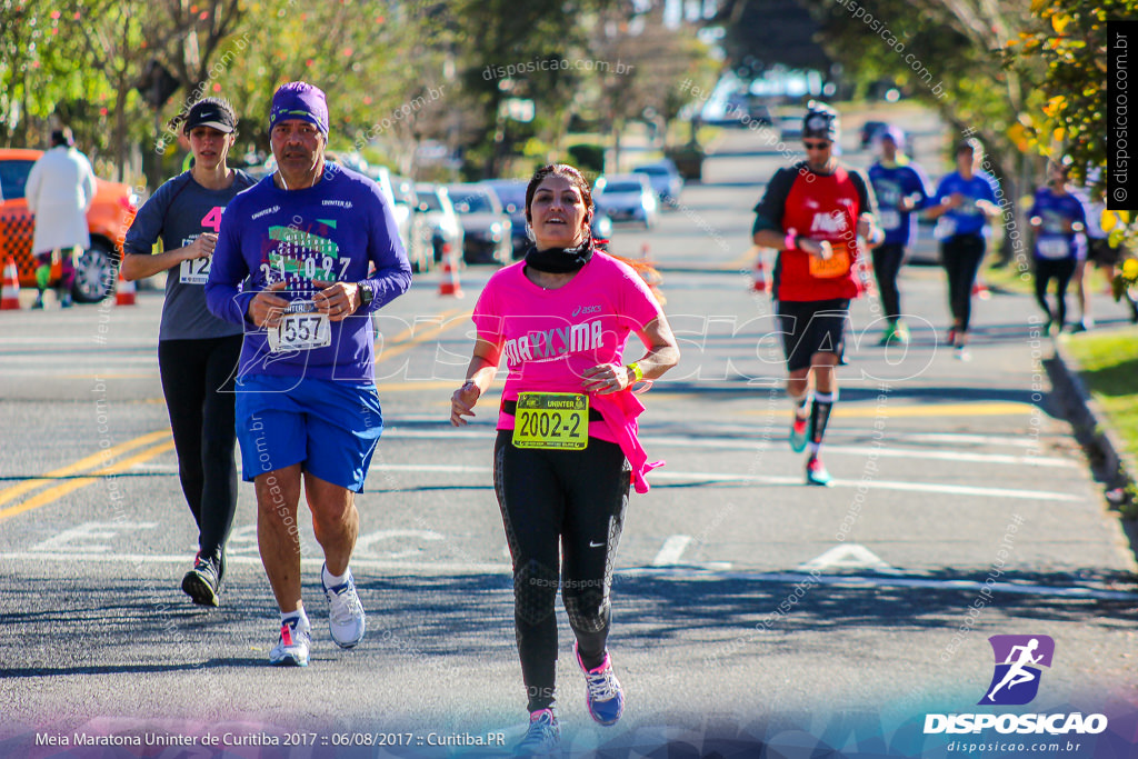
[[[32,255],[35,215],[27,209],[24,185],[32,165],[42,155],[42,150],[0,148],[0,266],[15,257],[20,287],[35,287]],[[123,237],[137,211],[138,197],[129,185],[96,178],[94,203],[86,215],[91,247],[75,262],[72,296],[77,303],[96,303],[114,292]],[[51,284],[59,277],[60,266],[56,264],[51,267]]]

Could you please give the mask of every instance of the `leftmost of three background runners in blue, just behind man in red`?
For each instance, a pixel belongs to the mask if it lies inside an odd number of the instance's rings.
[[[869,167],[869,183],[877,196],[877,224],[885,232],[885,241],[873,249],[873,273],[887,321],[881,344],[897,340],[906,345],[909,330],[901,320],[897,277],[905,263],[905,248],[916,237],[913,212],[929,201],[929,182],[921,167],[905,155],[901,130],[887,126],[879,137],[879,149],[881,157]]]

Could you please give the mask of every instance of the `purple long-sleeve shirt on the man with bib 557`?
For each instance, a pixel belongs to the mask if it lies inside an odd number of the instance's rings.
[[[313,281],[364,280],[374,299],[331,322],[328,346],[271,353],[266,330],[248,319],[253,298],[273,282],[287,283],[277,295],[298,300],[312,298]],[[325,164],[311,188],[281,190],[270,175],[229,203],[205,290],[212,313],[245,328],[240,376],[373,381],[370,314],[410,284],[411,264],[379,185]]]

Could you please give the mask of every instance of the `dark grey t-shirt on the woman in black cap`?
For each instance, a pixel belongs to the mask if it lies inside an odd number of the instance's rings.
[[[159,237],[164,249],[174,250],[190,245],[204,232],[216,233],[225,205],[254,184],[256,180],[238,171],[226,189],[209,190],[198,184],[190,172],[183,172],[159,187],[139,208],[123,249],[147,256]],[[159,340],[197,340],[241,333],[240,324],[217,319],[206,308],[209,262],[211,258],[183,261],[166,273]]]

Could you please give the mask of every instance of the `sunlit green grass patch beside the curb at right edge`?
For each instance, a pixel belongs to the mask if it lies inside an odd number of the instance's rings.
[[[1072,336],[1067,350],[1111,427],[1138,459],[1138,327]]]

